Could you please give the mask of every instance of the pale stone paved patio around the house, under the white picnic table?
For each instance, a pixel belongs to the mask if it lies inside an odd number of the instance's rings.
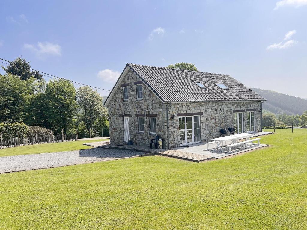
[[[255,135],[253,135],[253,137],[262,136],[262,135],[266,135],[270,133],[272,132],[260,132],[260,133],[256,133]],[[261,144],[260,146],[252,145],[248,149],[237,149],[237,150],[234,150],[233,153],[224,153],[220,150],[216,150],[216,151],[207,150],[207,145],[205,143],[193,144],[186,148],[177,147],[177,148],[172,148],[172,149],[156,149],[156,148],[150,149],[149,147],[140,146],[140,145],[118,146],[118,145],[111,145],[109,141],[86,143],[86,145],[98,147],[98,148],[142,151],[145,153],[154,152],[155,154],[158,154],[158,155],[169,156],[169,157],[174,157],[174,158],[184,159],[184,160],[189,160],[189,161],[194,161],[194,162],[201,162],[201,161],[206,161],[210,159],[219,159],[219,158],[223,158],[226,156],[231,156],[231,155],[235,155],[238,153],[247,152],[247,151],[251,151],[257,148],[262,148],[262,147],[267,146],[267,144]],[[216,144],[211,144],[209,146],[209,148],[215,148],[215,147],[216,147]]]

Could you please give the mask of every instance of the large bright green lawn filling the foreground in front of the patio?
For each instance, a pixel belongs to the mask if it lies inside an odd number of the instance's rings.
[[[2,229],[307,229],[307,130],[193,163],[147,156],[0,174]],[[291,143],[291,144],[290,144]]]

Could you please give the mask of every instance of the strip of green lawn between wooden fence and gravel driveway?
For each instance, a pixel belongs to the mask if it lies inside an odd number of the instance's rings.
[[[25,145],[13,148],[4,148],[0,149],[1,156],[14,156],[14,155],[25,155],[33,153],[45,153],[45,152],[60,152],[60,151],[72,151],[93,148],[83,143],[96,142],[101,140],[109,139],[99,139],[99,140],[78,140],[78,141],[69,141],[69,142],[59,142],[59,143],[50,143],[50,144],[34,144],[34,145]]]

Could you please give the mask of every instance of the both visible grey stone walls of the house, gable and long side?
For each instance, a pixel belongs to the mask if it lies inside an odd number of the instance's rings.
[[[130,140],[134,145],[150,145],[150,139],[156,135],[161,136],[164,148],[167,148],[167,114],[166,104],[145,85],[143,86],[143,98],[137,99],[136,85],[140,79],[128,71],[120,84],[128,83],[128,101],[123,101],[123,89],[119,85],[114,89],[115,94],[111,98],[109,109],[110,142],[111,144],[123,144],[124,124],[122,114],[130,115],[129,129]],[[220,128],[228,128],[234,125],[233,110],[255,109],[255,131],[262,131],[260,102],[197,102],[197,103],[171,103],[169,107],[169,147],[178,147],[179,144],[179,119],[178,113],[203,113],[200,115],[201,141],[208,142],[212,138],[220,136]],[[138,132],[138,117],[136,114],[144,114],[144,132]],[[157,133],[149,132],[148,114],[157,114]],[[172,119],[172,115],[174,118]],[[246,132],[247,112],[243,112],[243,131]]]

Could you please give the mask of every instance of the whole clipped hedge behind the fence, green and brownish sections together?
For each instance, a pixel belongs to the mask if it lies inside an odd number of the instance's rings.
[[[26,126],[24,123],[0,123],[0,132],[2,133],[2,138],[15,138],[19,136],[35,136],[35,131],[37,131],[37,136],[49,136],[52,131],[39,126]],[[53,135],[53,134],[52,134]]]

